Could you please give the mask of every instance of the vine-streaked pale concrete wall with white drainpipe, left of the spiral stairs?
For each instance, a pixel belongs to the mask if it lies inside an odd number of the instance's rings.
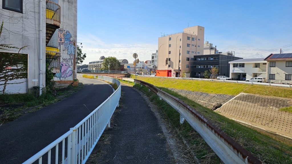
[[[2,6],[3,0],[0,0]],[[13,44],[16,47],[23,47],[20,53],[28,54],[28,91],[33,90],[33,86],[38,86],[39,82],[39,53],[42,52],[42,83],[46,86],[45,70],[46,70],[46,3],[42,3],[42,27],[41,40],[43,47],[39,50],[39,1],[26,0],[23,3],[23,12],[17,13],[0,8],[0,21],[4,21],[4,28],[1,35],[2,44]],[[18,52],[7,51],[7,52]],[[35,80],[34,80],[35,79]],[[34,80],[34,81],[33,81]]]

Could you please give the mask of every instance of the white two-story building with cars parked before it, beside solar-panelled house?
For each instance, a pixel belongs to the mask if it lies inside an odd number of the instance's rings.
[[[230,78],[241,80],[252,77],[267,76],[267,61],[263,58],[258,59],[238,59],[230,61]]]

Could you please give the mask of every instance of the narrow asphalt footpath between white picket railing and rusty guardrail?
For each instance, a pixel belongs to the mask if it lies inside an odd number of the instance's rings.
[[[105,152],[96,158],[107,164],[173,163],[172,155],[154,112],[132,87],[122,86],[120,107],[114,114],[114,127],[106,130],[109,144],[96,147]]]

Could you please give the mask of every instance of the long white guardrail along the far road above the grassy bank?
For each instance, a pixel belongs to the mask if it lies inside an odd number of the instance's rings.
[[[132,75],[135,75],[131,73]],[[292,88],[292,85],[288,84],[274,84],[274,83],[264,83],[264,82],[246,82],[246,81],[238,81],[238,80],[217,80],[217,79],[201,79],[201,78],[184,78],[184,77],[164,77],[164,76],[150,76],[150,75],[137,75],[142,77],[162,77],[162,78],[171,78],[171,79],[189,79],[189,80],[205,80],[205,81],[217,81],[217,82],[233,82],[233,83],[241,83],[241,84],[259,84],[259,85],[267,85],[267,86],[278,86],[278,87],[288,87]]]

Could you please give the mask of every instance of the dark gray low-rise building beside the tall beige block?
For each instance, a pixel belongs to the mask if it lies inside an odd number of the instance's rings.
[[[191,66],[191,77],[200,78],[204,76],[205,70],[210,70],[212,67],[218,67],[218,76],[230,75],[229,61],[242,59],[240,57],[234,57],[231,54],[210,54],[210,55],[194,55],[192,59],[193,64]]]

